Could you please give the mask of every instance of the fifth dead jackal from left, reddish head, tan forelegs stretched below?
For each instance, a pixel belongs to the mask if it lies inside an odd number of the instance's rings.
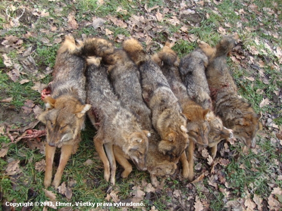
[[[210,125],[208,119],[212,112],[209,109],[203,109],[192,99],[188,97],[187,89],[182,83],[179,75],[179,59],[177,54],[171,49],[172,44],[166,43],[164,48],[153,56],[153,60],[160,66],[163,74],[169,81],[169,85],[175,96],[178,98],[183,114],[187,118],[187,133],[189,135],[189,145],[180,157],[183,171],[182,175],[189,180],[194,177],[193,173],[193,152],[194,143],[207,146]],[[188,158],[187,158],[188,157]]]

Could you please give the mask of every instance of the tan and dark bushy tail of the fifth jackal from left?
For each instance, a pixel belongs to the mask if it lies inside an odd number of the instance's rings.
[[[166,43],[164,48],[160,50],[158,53],[152,56],[152,59],[160,66],[174,66],[175,62],[178,62],[178,56],[171,48],[174,44]]]

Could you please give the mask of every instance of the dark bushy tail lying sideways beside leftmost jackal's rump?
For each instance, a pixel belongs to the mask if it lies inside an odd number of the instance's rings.
[[[114,45],[103,38],[88,38],[84,41],[81,52],[84,56],[104,57],[114,52]]]

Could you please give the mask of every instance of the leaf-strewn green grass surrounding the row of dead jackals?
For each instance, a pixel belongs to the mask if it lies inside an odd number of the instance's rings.
[[[277,47],[282,46],[280,34],[282,33],[279,26],[282,14],[278,12],[280,5],[279,1],[259,1],[254,0],[251,3],[247,1],[234,2],[227,1],[204,1],[204,6],[195,3],[192,8],[196,14],[189,14],[187,18],[180,18],[180,2],[162,1],[162,0],[148,0],[148,1],[97,1],[97,0],[82,0],[76,1],[76,3],[64,4],[63,2],[50,2],[47,0],[39,0],[28,4],[25,2],[9,2],[4,1],[0,6],[0,29],[5,29],[9,21],[5,16],[6,8],[10,4],[14,6],[23,5],[26,7],[26,11],[30,11],[30,15],[22,18],[22,25],[24,31],[7,31],[0,34],[1,42],[5,40],[6,36],[14,35],[23,40],[23,44],[17,47],[7,47],[7,51],[3,51],[1,46],[1,53],[6,53],[12,60],[13,64],[18,64],[22,67],[21,70],[26,71],[23,66],[23,61],[26,58],[22,57],[22,53],[18,53],[19,47],[25,47],[25,50],[32,47],[32,54],[36,62],[36,69],[38,74],[44,74],[47,67],[53,68],[55,64],[56,52],[60,43],[54,43],[55,39],[62,37],[62,34],[72,33],[77,39],[83,39],[83,36],[103,36],[107,39],[111,39],[116,47],[120,47],[121,44],[116,40],[119,35],[130,37],[143,33],[144,38],[146,36],[152,38],[153,51],[160,48],[160,45],[164,45],[168,41],[169,37],[173,37],[174,33],[180,35],[194,35],[199,40],[203,40],[206,43],[214,46],[218,40],[224,35],[219,31],[219,28],[226,30],[227,34],[237,33],[241,41],[241,52],[246,59],[241,60],[241,63],[236,63],[230,58],[228,59],[228,66],[232,72],[234,80],[238,86],[238,93],[243,96],[248,102],[250,102],[254,110],[259,113],[263,112],[263,121],[266,122],[268,118],[271,118],[275,124],[279,127],[282,125],[282,108],[280,106],[280,88],[281,82],[281,64],[277,56],[274,54],[274,50]],[[277,3],[277,5],[275,5]],[[187,2],[188,4],[188,2]],[[159,6],[159,12],[162,13],[165,8],[169,9],[168,14],[164,14],[162,21],[157,21],[155,14],[158,9],[154,9],[151,12],[145,10],[145,5],[148,8],[152,8],[156,5]],[[174,8],[174,6],[176,6]],[[178,7],[177,7],[178,6]],[[257,6],[257,7],[252,7]],[[121,8],[122,10],[117,12]],[[269,9],[268,9],[269,8]],[[43,17],[41,15],[32,15],[32,12],[40,12],[46,10],[49,12],[49,16]],[[272,12],[274,13],[272,14]],[[73,13],[75,20],[79,25],[78,29],[72,29],[69,27],[68,16]],[[39,14],[39,13],[38,13]],[[208,14],[208,15],[207,15]],[[123,21],[126,24],[131,23],[131,16],[144,16],[147,19],[147,24],[152,26],[162,26],[163,31],[144,31],[139,27],[129,26],[127,28],[121,28],[108,18],[113,16]],[[173,26],[168,19],[172,16],[176,16],[180,20],[180,24]],[[100,17],[106,20],[102,29],[108,29],[112,31],[111,36],[104,36],[101,28],[93,29],[91,23],[93,17]],[[185,16],[184,16],[185,17]],[[31,18],[31,19],[28,19]],[[189,22],[199,20],[197,25],[191,26]],[[89,26],[85,26],[84,23],[89,22]],[[231,27],[228,27],[228,25]],[[280,24],[281,25],[281,24]],[[56,26],[56,30],[50,30],[50,26]],[[183,33],[180,28],[186,26],[188,32]],[[5,30],[4,30],[5,31]],[[30,34],[30,35],[28,35]],[[278,34],[278,35],[277,35]],[[145,36],[146,35],[146,36]],[[277,37],[278,36],[278,37]],[[44,41],[45,40],[45,41]],[[49,40],[49,43],[46,41]],[[145,43],[144,40],[143,44]],[[270,49],[269,49],[270,47]],[[197,48],[197,41],[190,42],[184,39],[177,39],[173,50],[177,52],[179,58],[187,55],[189,52]],[[257,50],[257,54],[253,54],[252,49]],[[152,53],[151,52],[151,53]],[[236,56],[236,55],[234,55]],[[251,59],[252,58],[252,59]],[[249,61],[253,61],[253,64],[249,64]],[[265,63],[264,67],[259,67],[260,61]],[[246,61],[246,62],[245,62]],[[36,105],[43,108],[44,103],[40,99],[40,94],[37,91],[31,89],[34,86],[34,82],[41,81],[48,84],[52,81],[52,74],[46,75],[45,78],[39,79],[37,73],[21,74],[16,82],[13,82],[7,73],[13,69],[13,67],[6,67],[4,64],[4,58],[0,57],[0,101],[9,97],[12,97],[11,102],[1,102],[0,107],[5,112],[16,112],[18,115],[22,115],[25,100],[30,99]],[[244,63],[245,62],[245,63]],[[278,68],[275,68],[278,65]],[[263,72],[261,75],[258,72]],[[250,81],[246,77],[253,77],[254,81]],[[268,83],[266,82],[266,79]],[[22,79],[30,80],[27,83],[21,85],[19,83]],[[278,94],[277,94],[278,93]],[[269,104],[264,107],[260,107],[260,102],[263,99],[269,99]],[[33,121],[34,117],[31,115],[22,115],[27,121]],[[1,119],[0,123],[9,121],[7,119]],[[10,122],[9,122],[10,123]],[[11,128],[22,128],[27,123],[22,121],[11,122]],[[43,129],[43,124],[38,124],[36,129]],[[230,195],[226,198],[224,193],[215,189],[209,185],[208,178],[203,181],[203,185],[209,190],[209,193],[202,192],[197,184],[191,184],[192,188],[187,188],[189,184],[187,180],[180,180],[180,176],[168,178],[165,182],[163,189],[158,189],[154,193],[146,193],[144,202],[146,204],[145,209],[150,210],[152,206],[155,206],[158,210],[168,210],[169,207],[175,206],[175,209],[183,208],[173,192],[179,189],[185,199],[187,207],[193,207],[194,198],[198,196],[200,199],[207,200],[209,208],[211,210],[223,210],[226,201],[237,200],[238,198],[244,198],[246,195],[254,194],[259,195],[264,199],[264,205],[267,204],[267,199],[273,189],[273,187],[281,187],[282,180],[277,179],[280,168],[279,165],[282,162],[281,145],[275,138],[275,133],[278,130],[269,126],[269,130],[264,130],[261,135],[257,137],[258,149],[250,150],[248,153],[243,153],[242,144],[235,143],[234,145],[228,145],[230,153],[225,153],[223,157],[230,161],[227,166],[218,166],[216,168],[222,168],[226,175],[226,182],[229,183],[227,187],[225,184],[218,183],[219,188],[226,188],[230,192]],[[110,184],[103,178],[103,163],[97,159],[98,155],[95,152],[93,144],[93,136],[95,131],[90,121],[86,123],[86,130],[82,133],[82,142],[80,142],[79,151],[71,157],[69,160],[62,181],[65,181],[67,185],[72,185],[72,198],[68,200],[64,195],[59,194],[53,187],[49,187],[48,190],[56,194],[56,200],[60,202],[78,202],[78,201],[91,201],[102,203],[106,201],[107,190]],[[43,138],[44,140],[44,138]],[[276,142],[274,141],[276,140]],[[10,143],[10,139],[7,136],[0,136],[1,143]],[[222,149],[222,148],[221,148]],[[55,157],[55,166],[58,165],[59,152]],[[19,168],[21,173],[8,176],[6,175],[6,168],[8,163],[12,160],[19,160]],[[40,153],[40,150],[29,149],[25,141],[19,141],[12,143],[9,146],[8,154],[0,158],[0,192],[2,196],[8,201],[38,201],[45,202],[49,199],[45,196],[42,189],[44,172],[38,172],[35,170],[35,162],[39,162],[44,159],[44,155]],[[92,160],[91,165],[85,165],[86,160]],[[200,171],[206,171],[206,176],[211,176],[210,166],[207,164],[206,159],[196,158],[198,162],[202,163]],[[279,165],[277,166],[277,162]],[[195,162],[197,164],[197,162]],[[56,168],[56,167],[55,167]],[[197,171],[197,174],[201,172]],[[150,177],[146,172],[139,172],[136,168],[127,179],[120,178],[122,169],[118,167],[117,181],[114,187],[120,200],[130,198],[133,192],[133,186],[140,186],[142,191],[145,192],[146,186],[143,186],[142,181],[149,183]],[[75,180],[74,184],[71,184]],[[271,184],[271,186],[269,185]],[[189,199],[189,200],[186,200]],[[1,199],[2,200],[2,199]],[[112,199],[111,199],[112,200]],[[110,201],[111,201],[110,200]],[[192,204],[190,204],[192,203]],[[43,207],[33,207],[33,210],[42,210]],[[59,207],[61,208],[61,207]],[[73,209],[79,208],[80,210],[89,210],[90,207],[77,207],[73,206]],[[16,208],[21,210],[21,208]],[[110,208],[115,210],[115,208]],[[136,210],[129,208],[128,210]],[[140,209],[137,209],[140,210]]]

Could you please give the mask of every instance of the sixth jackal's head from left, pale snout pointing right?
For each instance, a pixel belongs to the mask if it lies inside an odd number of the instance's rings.
[[[208,137],[210,147],[219,143],[221,140],[233,137],[232,130],[225,128],[225,126],[223,126],[223,122],[219,117],[213,115],[208,121],[211,127]]]

